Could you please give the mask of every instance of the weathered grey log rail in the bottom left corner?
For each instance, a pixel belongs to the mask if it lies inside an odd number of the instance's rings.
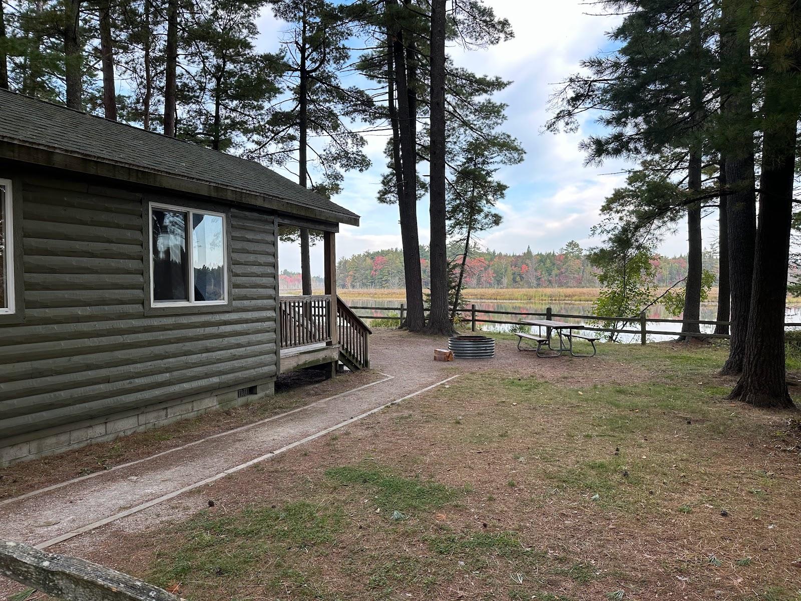
[[[22,543],[0,541],[0,574],[65,601],[183,601],[111,568]]]

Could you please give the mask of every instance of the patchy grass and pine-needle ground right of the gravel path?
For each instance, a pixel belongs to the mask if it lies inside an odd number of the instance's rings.
[[[414,369],[436,342],[374,338]],[[723,400],[725,348],[498,339],[500,361],[192,493],[205,509],[53,551],[192,601],[801,600],[799,413]]]

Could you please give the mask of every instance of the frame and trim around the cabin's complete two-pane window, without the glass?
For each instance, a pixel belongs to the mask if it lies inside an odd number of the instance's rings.
[[[220,305],[228,305],[228,236],[227,236],[227,216],[225,213],[216,211],[207,211],[201,208],[181,207],[175,204],[164,204],[158,202],[151,202],[148,204],[147,209],[147,233],[148,233],[148,248],[150,257],[148,263],[150,264],[150,305],[151,309],[167,309],[167,308],[188,308],[188,307],[213,307]],[[189,292],[189,300],[155,300],[155,282],[153,277],[153,209],[163,209],[167,211],[182,212],[187,214],[187,268],[189,270],[187,285]],[[221,300],[195,300],[195,236],[192,228],[192,215],[198,213],[200,215],[210,215],[219,217],[223,220],[223,298]]]

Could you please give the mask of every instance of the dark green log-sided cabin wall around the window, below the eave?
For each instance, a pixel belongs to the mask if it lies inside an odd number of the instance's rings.
[[[272,395],[273,215],[41,171],[14,177],[24,308],[19,323],[0,322],[0,465]],[[226,213],[228,305],[147,307],[150,201]]]

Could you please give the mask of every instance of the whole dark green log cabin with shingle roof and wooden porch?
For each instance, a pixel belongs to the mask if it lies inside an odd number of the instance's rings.
[[[368,367],[340,224],[260,163],[0,90],[0,466]],[[286,227],[322,232],[324,294],[280,296]]]

